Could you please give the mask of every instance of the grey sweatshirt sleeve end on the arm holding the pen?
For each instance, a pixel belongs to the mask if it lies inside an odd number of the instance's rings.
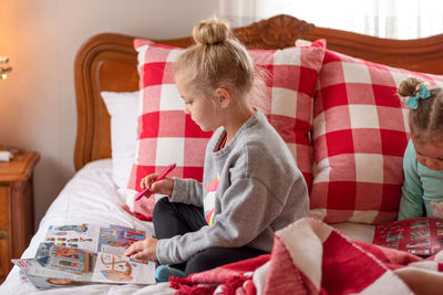
[[[195,179],[174,178],[174,189],[169,200],[203,207],[203,185]]]

